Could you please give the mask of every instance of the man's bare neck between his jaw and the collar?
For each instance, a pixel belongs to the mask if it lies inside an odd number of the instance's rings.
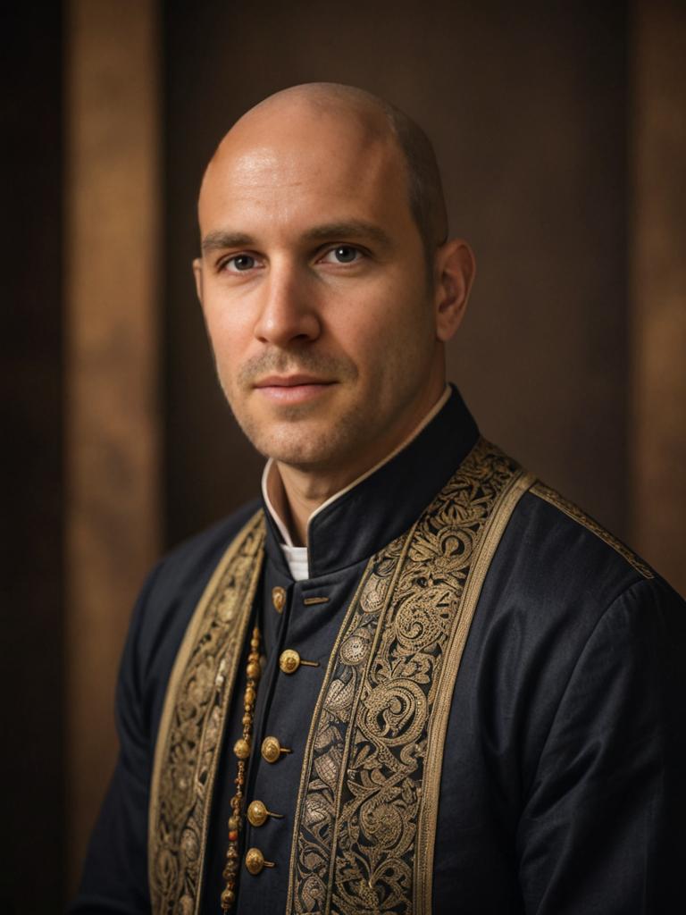
[[[381,464],[390,460],[408,445],[445,404],[449,389],[445,388],[428,404],[423,404],[419,415],[413,415],[399,434],[385,445],[368,452],[365,459],[348,464],[343,469],[310,471],[274,461],[268,480],[273,509],[284,522],[295,546],[307,545],[307,523],[312,514],[332,497],[342,494],[350,486],[369,476]]]

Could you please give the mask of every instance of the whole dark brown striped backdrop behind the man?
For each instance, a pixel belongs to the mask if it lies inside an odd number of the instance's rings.
[[[352,82],[423,124],[479,265],[451,379],[487,436],[686,587],[686,14],[69,0],[0,15],[0,910],[42,913],[73,886],[113,763],[145,569],[256,491],[190,261],[202,169],[266,94]]]

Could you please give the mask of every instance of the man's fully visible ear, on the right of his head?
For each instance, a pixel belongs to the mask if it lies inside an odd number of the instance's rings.
[[[439,248],[435,259],[436,339],[446,342],[459,328],[476,274],[474,253],[462,239],[451,239]]]

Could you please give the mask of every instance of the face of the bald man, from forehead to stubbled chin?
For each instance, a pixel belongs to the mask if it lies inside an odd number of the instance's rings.
[[[445,383],[402,158],[349,115],[290,105],[245,120],[199,205],[220,382],[264,455],[354,479]]]

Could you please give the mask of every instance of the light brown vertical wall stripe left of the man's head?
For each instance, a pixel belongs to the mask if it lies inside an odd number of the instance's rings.
[[[158,42],[152,0],[66,8],[67,797],[73,885],[115,756],[113,694],[158,551]]]

